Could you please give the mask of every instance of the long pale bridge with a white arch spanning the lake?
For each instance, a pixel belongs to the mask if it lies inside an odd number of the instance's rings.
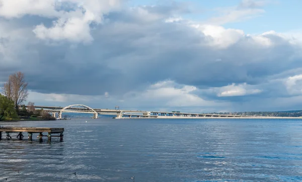
[[[25,106],[28,108],[29,106]],[[62,113],[88,113],[93,114],[93,118],[99,118],[99,115],[112,115],[115,119],[122,118],[259,118],[257,116],[242,116],[242,115],[220,115],[220,114],[204,114],[204,113],[185,113],[185,112],[164,112],[164,111],[134,111],[134,110],[119,110],[117,109],[93,109],[86,105],[70,105],[66,107],[53,106],[34,106],[35,109],[43,109],[52,114],[58,119],[62,119]]]

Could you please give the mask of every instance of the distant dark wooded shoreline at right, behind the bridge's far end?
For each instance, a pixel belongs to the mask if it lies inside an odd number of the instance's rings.
[[[233,113],[213,113],[224,115],[241,115],[241,116],[273,116],[273,117],[302,117],[302,111],[290,111],[290,112],[233,112]]]

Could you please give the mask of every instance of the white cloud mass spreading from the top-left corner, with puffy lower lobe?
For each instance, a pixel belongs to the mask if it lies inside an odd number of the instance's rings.
[[[62,4],[72,4],[72,10],[65,10]],[[40,39],[68,40],[88,43],[92,23],[102,22],[103,15],[119,7],[121,0],[0,0],[0,16],[20,18],[24,15],[56,18],[52,27],[37,25],[33,32]],[[61,8],[60,11],[57,11]]]

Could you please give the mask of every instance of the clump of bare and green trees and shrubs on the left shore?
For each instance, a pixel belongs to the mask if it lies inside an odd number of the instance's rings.
[[[2,88],[3,95],[0,94],[0,121],[20,119],[55,120],[43,109],[36,110],[34,103],[29,102],[27,108],[22,105],[28,97],[27,84],[22,72],[16,72],[9,76],[8,81]]]

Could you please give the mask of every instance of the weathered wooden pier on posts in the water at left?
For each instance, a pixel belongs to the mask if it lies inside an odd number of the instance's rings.
[[[12,138],[10,133],[19,133],[17,138],[19,140],[23,139],[23,134],[22,132],[27,132],[28,133],[28,140],[32,141],[33,140],[33,133],[39,133],[38,135],[38,140],[43,141],[42,137],[47,136],[48,141],[51,141],[51,137],[60,137],[60,141],[63,140],[63,132],[64,128],[30,128],[30,127],[0,127],[0,140],[2,139],[2,132],[6,132],[6,138],[10,139]],[[43,135],[43,133],[48,133],[48,135]],[[53,135],[57,134],[57,135]]]

